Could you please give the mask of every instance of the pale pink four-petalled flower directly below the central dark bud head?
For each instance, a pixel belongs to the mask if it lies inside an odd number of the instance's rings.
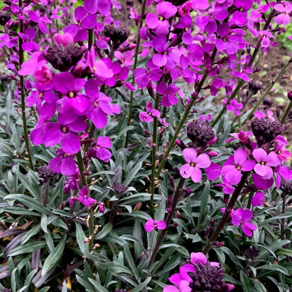
[[[183,158],[187,164],[183,164],[180,169],[180,174],[183,178],[191,177],[194,183],[199,183],[202,178],[200,168],[209,167],[211,164],[210,158],[206,153],[202,153],[197,157],[197,151],[194,148],[183,149]]]

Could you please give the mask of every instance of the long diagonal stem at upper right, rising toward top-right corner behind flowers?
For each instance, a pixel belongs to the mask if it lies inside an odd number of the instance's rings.
[[[269,15],[269,18],[267,19],[267,22],[266,22],[266,24],[265,24],[263,30],[266,30],[266,29],[269,27],[270,22],[271,22],[271,20],[272,20],[272,18],[273,18],[273,16],[274,16],[274,11],[275,11],[274,9],[271,11],[271,13],[270,13],[270,15]],[[257,56],[257,54],[258,54],[258,52],[259,52],[260,46],[261,46],[261,42],[258,40],[258,41],[257,41],[257,45],[256,45],[256,49],[254,50],[254,53],[253,53],[253,55],[252,55],[251,59],[249,60],[249,62],[248,62],[248,64],[247,64],[246,67],[251,67],[251,66],[254,64],[254,61],[256,60],[256,56]],[[218,123],[218,121],[220,120],[221,116],[222,116],[223,113],[225,112],[226,107],[229,105],[229,102],[237,96],[237,92],[240,90],[240,88],[241,88],[241,86],[244,84],[244,82],[245,82],[245,81],[242,80],[242,79],[238,80],[238,82],[237,82],[237,87],[235,88],[235,90],[232,92],[232,94],[231,94],[231,95],[229,96],[229,98],[227,99],[226,104],[225,104],[225,105],[223,106],[223,108],[220,110],[220,112],[219,112],[217,118],[216,118],[216,119],[214,120],[214,122],[211,124],[211,127],[214,127],[214,126]],[[243,126],[243,125],[244,125],[244,124],[242,124],[242,126]]]

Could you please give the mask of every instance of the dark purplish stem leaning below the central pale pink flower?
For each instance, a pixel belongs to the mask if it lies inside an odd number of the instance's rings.
[[[152,254],[151,254],[151,256],[149,258],[149,261],[148,261],[147,270],[152,266],[152,264],[153,264],[153,262],[155,260],[155,257],[156,257],[156,255],[158,253],[159,247],[160,247],[160,245],[161,245],[161,243],[163,241],[163,238],[164,238],[164,236],[165,236],[165,234],[167,232],[167,229],[169,227],[169,223],[170,223],[170,221],[171,221],[171,219],[173,217],[173,214],[175,212],[175,208],[176,208],[177,203],[179,201],[180,193],[182,191],[184,181],[185,181],[184,178],[180,179],[180,182],[178,184],[178,187],[177,187],[176,192],[175,192],[174,197],[173,197],[173,201],[171,203],[171,212],[167,214],[166,219],[165,219],[166,228],[162,230],[162,232],[160,233],[160,235],[159,235],[159,237],[158,237],[158,239],[156,241],[156,244],[154,246],[154,249],[153,249]]]

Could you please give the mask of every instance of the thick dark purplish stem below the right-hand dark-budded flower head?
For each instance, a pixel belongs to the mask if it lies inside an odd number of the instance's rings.
[[[219,234],[221,232],[221,230],[223,229],[223,227],[225,226],[225,223],[227,222],[227,219],[229,218],[229,215],[230,215],[230,212],[231,210],[233,209],[236,201],[237,201],[237,198],[241,192],[241,189],[245,183],[245,181],[247,180],[248,176],[250,174],[250,171],[247,171],[247,172],[244,172],[242,177],[241,177],[241,180],[240,182],[237,184],[237,187],[236,189],[234,190],[233,192],[233,195],[225,209],[225,213],[223,214],[217,228],[215,229],[215,231],[213,232],[212,236],[210,237],[210,239],[208,240],[208,242],[206,243],[204,249],[203,249],[203,254],[207,254],[212,246],[212,243],[214,241],[217,240],[217,238],[219,237]],[[230,212],[228,212],[227,210],[230,210]]]

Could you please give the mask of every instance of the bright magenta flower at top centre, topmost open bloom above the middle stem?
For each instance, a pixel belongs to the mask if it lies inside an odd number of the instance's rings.
[[[177,12],[177,7],[170,2],[160,2],[156,6],[157,15],[148,13],[146,16],[146,24],[149,28],[155,29],[157,35],[167,35],[170,24],[168,18],[174,16]]]

